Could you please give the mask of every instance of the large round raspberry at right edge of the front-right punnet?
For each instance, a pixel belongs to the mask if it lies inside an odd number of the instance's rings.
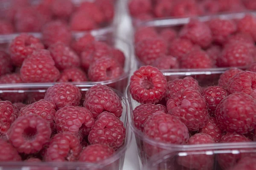
[[[215,117],[222,130],[246,134],[256,125],[255,113],[256,100],[248,94],[235,93],[221,101],[216,108]]]

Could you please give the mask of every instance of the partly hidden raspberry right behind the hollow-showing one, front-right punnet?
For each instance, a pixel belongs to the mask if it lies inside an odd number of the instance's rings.
[[[166,101],[169,100],[173,95],[181,95],[187,88],[193,88],[201,92],[201,87],[198,85],[198,81],[193,77],[185,77],[184,79],[175,79],[168,82],[168,88],[166,90]]]

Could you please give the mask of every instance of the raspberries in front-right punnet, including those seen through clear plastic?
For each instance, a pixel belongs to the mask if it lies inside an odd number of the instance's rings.
[[[167,82],[157,68],[142,66],[131,76],[130,94],[140,103],[133,111],[133,124],[153,141],[191,145],[251,142],[256,135],[256,63],[248,71],[230,68],[220,75],[217,85],[208,87],[189,76]],[[142,149],[147,157],[163,150],[147,142]],[[256,160],[256,154],[250,152],[217,157],[222,170],[233,170],[245,157]],[[192,154],[178,157],[175,166],[212,170],[214,160],[214,155]]]

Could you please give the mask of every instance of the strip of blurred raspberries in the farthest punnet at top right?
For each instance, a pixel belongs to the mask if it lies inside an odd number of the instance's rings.
[[[132,17],[151,20],[256,10],[255,0],[129,0]]]

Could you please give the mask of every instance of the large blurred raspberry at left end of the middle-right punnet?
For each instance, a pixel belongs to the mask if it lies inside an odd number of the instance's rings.
[[[166,52],[166,42],[160,38],[144,39],[138,42],[135,46],[137,57],[146,65],[151,65],[154,63],[155,59],[165,55]]]

